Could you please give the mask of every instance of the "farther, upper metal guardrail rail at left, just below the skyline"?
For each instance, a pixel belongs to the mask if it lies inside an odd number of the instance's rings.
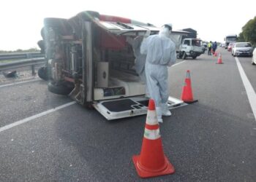
[[[8,53],[0,54],[0,60],[18,60],[18,59],[29,59],[29,58],[42,58],[44,54],[40,52],[22,52],[22,53]]]

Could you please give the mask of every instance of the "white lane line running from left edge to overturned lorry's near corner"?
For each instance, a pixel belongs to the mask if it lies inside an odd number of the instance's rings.
[[[36,115],[34,115],[34,116],[27,117],[27,118],[22,119],[22,120],[20,120],[20,121],[18,121],[18,122],[14,122],[14,123],[8,124],[8,125],[6,125],[6,126],[4,126],[4,127],[0,127],[0,132],[3,132],[4,130],[9,130],[9,129],[12,128],[12,127],[16,127],[16,126],[18,126],[18,125],[20,125],[20,124],[24,124],[24,123],[26,123],[26,122],[29,122],[29,121],[31,121],[31,120],[33,120],[33,119],[36,119],[36,118],[39,118],[39,117],[41,117],[41,116],[45,116],[46,114],[50,114],[50,113],[52,113],[52,112],[54,112],[54,111],[58,111],[58,110],[60,110],[61,108],[66,108],[67,106],[71,106],[71,105],[73,105],[74,103],[76,103],[76,102],[75,102],[75,101],[72,101],[72,102],[70,102],[70,103],[65,103],[64,105],[58,106],[58,107],[56,107],[56,108],[51,108],[51,109],[48,110],[48,111],[43,111],[42,113],[36,114]]]

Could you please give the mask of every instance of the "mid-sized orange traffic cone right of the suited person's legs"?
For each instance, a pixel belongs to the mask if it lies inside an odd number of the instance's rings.
[[[185,103],[195,103],[198,100],[193,99],[193,93],[192,93],[192,86],[191,86],[191,80],[190,80],[190,71],[187,71],[184,87],[182,89],[181,93],[181,100],[183,100]]]

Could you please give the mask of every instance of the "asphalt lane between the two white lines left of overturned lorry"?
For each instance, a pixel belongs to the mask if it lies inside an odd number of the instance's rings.
[[[67,96],[48,92],[47,82],[41,79],[1,86],[0,127],[71,101]]]

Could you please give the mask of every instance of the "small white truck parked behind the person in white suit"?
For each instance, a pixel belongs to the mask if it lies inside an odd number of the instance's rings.
[[[203,42],[200,39],[184,39],[177,52],[177,58],[186,59],[192,57],[193,59],[200,56],[205,51]]]

